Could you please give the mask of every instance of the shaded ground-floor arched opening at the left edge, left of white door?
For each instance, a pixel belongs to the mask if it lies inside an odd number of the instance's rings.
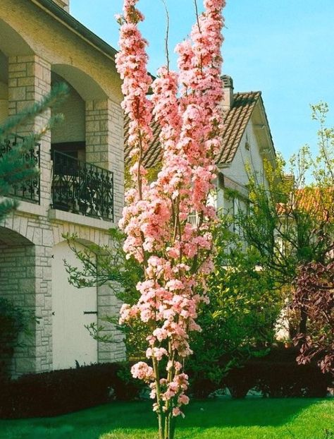
[[[9,306],[25,312],[35,311],[36,270],[35,246],[16,231],[0,227],[0,297]],[[35,322],[31,320],[30,335],[20,338],[4,360],[6,373],[12,376],[35,371]]]

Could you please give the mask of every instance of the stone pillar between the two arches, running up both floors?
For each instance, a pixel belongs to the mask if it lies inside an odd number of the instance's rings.
[[[51,88],[51,68],[47,61],[36,55],[12,56],[8,59],[8,113],[9,116],[23,112],[34,102],[42,100]],[[18,135],[27,136],[38,132],[47,124],[50,110],[37,116],[30,124],[20,127]],[[51,136],[47,132],[40,141],[40,205],[43,215],[30,217],[23,236],[32,234],[35,244],[35,264],[30,267],[30,277],[20,286],[25,294],[23,306],[35,309],[39,324],[35,324],[29,349],[16,364],[16,373],[48,371],[52,366],[51,339],[51,248],[52,231],[47,220],[51,201]],[[30,230],[32,233],[30,233]],[[33,285],[32,285],[33,282]],[[29,299],[27,299],[29,298]]]

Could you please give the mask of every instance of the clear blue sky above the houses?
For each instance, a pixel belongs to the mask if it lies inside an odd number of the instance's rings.
[[[199,6],[202,1],[198,0]],[[334,0],[228,0],[223,73],[235,92],[261,90],[276,150],[289,157],[316,144],[309,104],[330,105],[334,126]],[[190,32],[193,0],[166,0],[171,19],[170,52]],[[122,0],[70,0],[70,12],[103,40],[118,47]],[[140,0],[149,40],[149,70],[165,64],[166,16],[160,0]],[[175,56],[173,56],[175,66]]]

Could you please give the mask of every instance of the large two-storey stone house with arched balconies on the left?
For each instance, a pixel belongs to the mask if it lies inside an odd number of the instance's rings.
[[[64,121],[31,151],[39,179],[16,188],[20,206],[0,224],[0,295],[39,317],[32,337],[16,349],[13,376],[125,356],[114,327],[108,332],[117,344],[94,341],[84,327],[118,310],[110,289],[73,289],[63,266],[63,258],[75,260],[62,235],[108,244],[106,231],[118,223],[124,200],[116,51],[68,14],[68,1],[0,3],[0,123],[58,81],[70,89],[58,109]],[[49,116],[0,145],[0,157]]]

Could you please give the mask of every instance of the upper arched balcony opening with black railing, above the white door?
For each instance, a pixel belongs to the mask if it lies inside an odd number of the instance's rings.
[[[69,88],[68,98],[56,109],[64,119],[51,129],[52,208],[113,220],[108,97],[73,66],[52,66],[51,82],[65,82]]]

